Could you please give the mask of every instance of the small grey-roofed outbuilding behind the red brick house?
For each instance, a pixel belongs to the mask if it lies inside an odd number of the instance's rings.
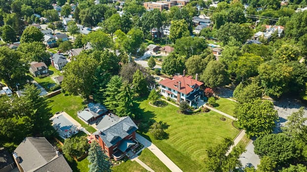
[[[105,115],[108,110],[100,103],[89,103],[88,108],[77,112],[77,115],[86,123],[90,123],[99,117]]]

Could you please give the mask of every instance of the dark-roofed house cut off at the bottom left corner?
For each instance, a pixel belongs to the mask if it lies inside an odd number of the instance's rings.
[[[15,168],[12,154],[0,148],[0,172],[10,172]]]

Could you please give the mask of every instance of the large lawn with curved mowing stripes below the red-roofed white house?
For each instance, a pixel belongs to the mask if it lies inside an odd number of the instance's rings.
[[[184,172],[205,171],[206,149],[220,143],[223,138],[235,138],[239,131],[231,119],[220,120],[222,115],[209,112],[198,115],[178,114],[177,107],[168,105],[155,108],[148,100],[140,102],[143,121],[162,120],[169,125],[165,131],[169,139],[155,140],[149,133],[145,137],[156,144]]]

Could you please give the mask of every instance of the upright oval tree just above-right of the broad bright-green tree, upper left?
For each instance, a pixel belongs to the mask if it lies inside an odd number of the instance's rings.
[[[113,14],[108,19],[104,20],[102,23],[102,28],[105,30],[106,33],[109,33],[113,39],[113,33],[120,29],[120,16],[118,13]]]

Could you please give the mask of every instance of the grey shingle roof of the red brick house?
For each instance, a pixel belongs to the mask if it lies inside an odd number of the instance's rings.
[[[107,147],[111,147],[117,142],[137,130],[136,124],[129,116],[119,118],[119,121],[111,126],[98,130],[94,135],[99,135]]]

